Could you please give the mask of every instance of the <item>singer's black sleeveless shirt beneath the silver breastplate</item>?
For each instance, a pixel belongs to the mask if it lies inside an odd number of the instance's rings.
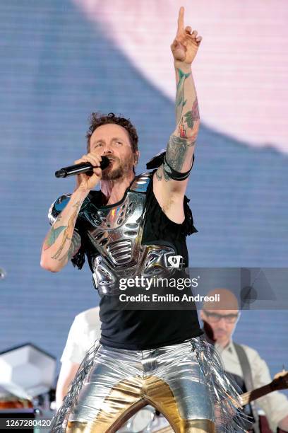
[[[171,221],[162,211],[154,195],[152,185],[153,173],[154,171],[150,175],[150,185],[148,186],[146,196],[147,213],[142,244],[170,244],[174,246],[177,255],[182,255],[184,262],[188,266],[186,236],[197,231],[193,226],[193,217],[188,207],[189,200],[187,197],[184,197],[184,222],[176,224]],[[101,192],[91,191],[90,199],[93,204],[98,204],[97,207],[99,208],[101,207],[99,204],[100,197]],[[121,204],[121,202],[117,204]],[[76,224],[76,228],[77,226],[78,224]],[[85,240],[85,233],[83,233],[80,226],[78,226],[78,231],[82,238],[82,246],[78,255],[72,259],[73,265],[77,265],[78,267],[83,266],[83,253],[85,252],[92,270],[90,262],[92,256],[91,246]],[[117,309],[115,306],[115,296],[103,296],[100,300],[100,343],[103,345],[128,350],[147,350],[183,342],[188,338],[196,337],[203,333],[198,323],[196,308],[128,310]]]

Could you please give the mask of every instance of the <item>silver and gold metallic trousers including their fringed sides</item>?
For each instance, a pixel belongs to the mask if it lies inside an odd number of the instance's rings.
[[[97,345],[52,432],[116,432],[148,404],[176,433],[241,431],[238,395],[210,350],[200,337],[142,351]]]

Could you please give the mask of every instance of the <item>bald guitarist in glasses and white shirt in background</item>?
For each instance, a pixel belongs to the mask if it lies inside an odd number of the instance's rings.
[[[220,302],[204,302],[200,317],[205,324],[208,339],[215,344],[220,354],[225,371],[234,376],[244,393],[267,385],[271,382],[271,376],[266,362],[256,350],[238,345],[232,340],[240,316],[236,296],[227,289],[212,290],[208,296],[215,294],[220,295]],[[258,398],[256,403],[265,412],[272,432],[276,432],[277,427],[288,431],[288,399],[284,394],[277,391],[268,393]],[[247,410],[256,420],[254,431],[259,432],[256,405],[251,402]]]

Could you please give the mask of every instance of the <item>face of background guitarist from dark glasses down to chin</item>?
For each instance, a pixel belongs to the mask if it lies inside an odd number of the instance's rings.
[[[201,311],[201,318],[210,325],[213,339],[217,340],[220,345],[231,339],[238,315],[238,310],[205,309]]]

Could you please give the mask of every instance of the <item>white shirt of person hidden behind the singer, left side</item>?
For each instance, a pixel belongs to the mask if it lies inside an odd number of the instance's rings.
[[[71,325],[61,362],[81,364],[85,354],[100,339],[101,322],[99,307],[90,308],[78,314]]]

